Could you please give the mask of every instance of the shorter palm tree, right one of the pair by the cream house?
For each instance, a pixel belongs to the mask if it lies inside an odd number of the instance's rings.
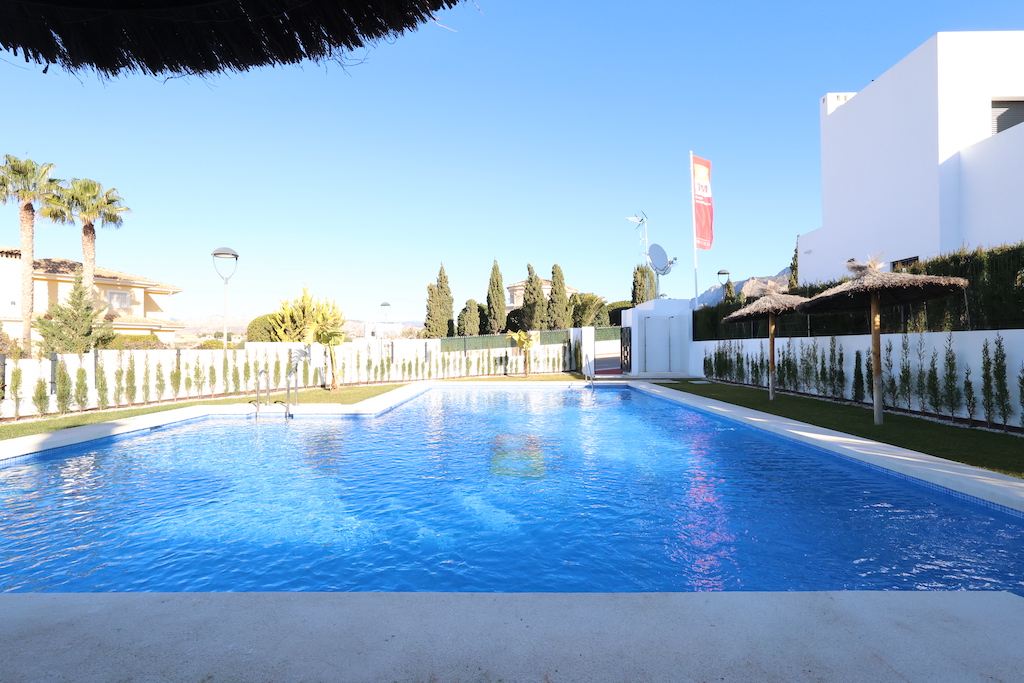
[[[82,221],[82,285],[92,299],[92,285],[96,272],[96,223],[121,227],[121,215],[131,211],[115,188],[103,189],[95,180],[73,178],[67,187],[60,187],[49,201],[52,218],[60,223]]]

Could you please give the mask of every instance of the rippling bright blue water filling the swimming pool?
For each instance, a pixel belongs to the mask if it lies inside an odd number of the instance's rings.
[[[433,389],[0,468],[0,591],[1024,588],[1024,520],[628,389]]]

